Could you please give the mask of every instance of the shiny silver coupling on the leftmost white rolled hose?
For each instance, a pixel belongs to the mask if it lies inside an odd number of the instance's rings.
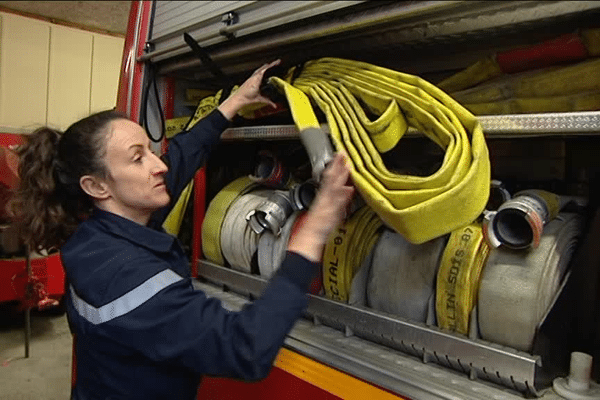
[[[246,215],[246,221],[256,234],[265,229],[279,236],[281,228],[288,217],[294,212],[289,192],[274,190],[267,199]]]

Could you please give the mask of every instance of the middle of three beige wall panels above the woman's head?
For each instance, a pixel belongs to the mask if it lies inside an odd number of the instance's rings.
[[[52,25],[48,125],[66,129],[90,113],[91,32]]]

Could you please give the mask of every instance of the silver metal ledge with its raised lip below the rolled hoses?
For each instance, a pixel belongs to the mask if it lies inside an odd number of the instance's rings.
[[[248,301],[240,296],[258,297],[266,286],[259,277],[207,261],[199,262],[198,271],[218,286],[197,282],[197,287],[221,300],[237,297],[239,307]],[[419,399],[539,395],[533,387],[538,356],[319,296],[310,296],[306,317],[286,342],[294,350],[401,395]],[[458,392],[449,390],[449,382]]]

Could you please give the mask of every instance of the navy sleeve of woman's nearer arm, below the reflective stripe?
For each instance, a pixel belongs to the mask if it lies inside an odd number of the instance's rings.
[[[239,312],[227,311],[220,300],[181,280],[105,324],[102,334],[151,360],[199,375],[262,379],[305,309],[319,266],[288,252],[261,297]]]

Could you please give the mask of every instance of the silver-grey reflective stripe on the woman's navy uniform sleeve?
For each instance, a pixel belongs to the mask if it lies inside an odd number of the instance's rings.
[[[148,279],[135,289],[125,293],[123,296],[96,308],[85,302],[81,297],[77,296],[73,286],[70,286],[71,299],[75,309],[83,318],[94,325],[108,322],[111,319],[125,315],[133,311],[137,307],[150,300],[155,294],[160,292],[167,286],[182,280],[183,278],[177,275],[170,269],[159,272],[152,278]]]

